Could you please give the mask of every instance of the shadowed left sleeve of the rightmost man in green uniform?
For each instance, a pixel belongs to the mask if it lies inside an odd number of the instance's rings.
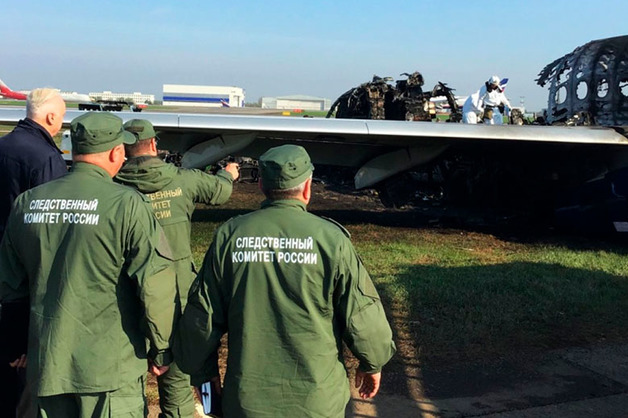
[[[177,365],[193,385],[218,375],[218,347],[227,332],[229,296],[216,251],[216,237],[190,287],[188,303],[174,339]]]

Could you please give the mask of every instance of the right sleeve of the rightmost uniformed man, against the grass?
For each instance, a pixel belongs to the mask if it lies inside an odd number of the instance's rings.
[[[360,370],[377,373],[396,351],[392,330],[371,277],[348,238],[340,244],[339,257],[335,309],[342,337],[360,361]]]

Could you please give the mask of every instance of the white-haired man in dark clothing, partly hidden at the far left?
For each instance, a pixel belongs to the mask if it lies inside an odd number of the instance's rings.
[[[22,192],[66,174],[65,161],[52,137],[61,129],[65,102],[54,89],[36,89],[26,101],[26,119],[18,122],[11,133],[0,139],[0,241],[4,235],[11,205]],[[10,318],[27,318],[18,311],[28,312],[27,304],[4,304],[0,316],[0,340],[24,341],[14,338],[24,334],[28,324]],[[13,315],[17,313],[17,315]],[[2,319],[4,318],[4,319]],[[0,416],[15,415],[21,393],[16,370],[25,358],[16,360],[26,347],[3,343],[0,352]],[[11,367],[9,363],[14,367]]]

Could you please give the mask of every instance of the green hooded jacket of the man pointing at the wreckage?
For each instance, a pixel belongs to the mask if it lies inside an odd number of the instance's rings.
[[[115,180],[136,188],[150,199],[172,249],[177,293],[181,308],[185,307],[190,285],[196,277],[190,248],[195,204],[226,202],[231,196],[233,177],[224,170],[212,176],[200,170],[178,168],[157,157],[136,157],[122,166]]]

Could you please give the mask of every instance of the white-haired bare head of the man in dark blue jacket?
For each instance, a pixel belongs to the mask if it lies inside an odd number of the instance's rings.
[[[26,117],[41,125],[50,136],[55,136],[65,116],[65,102],[55,89],[32,90],[26,98]]]

